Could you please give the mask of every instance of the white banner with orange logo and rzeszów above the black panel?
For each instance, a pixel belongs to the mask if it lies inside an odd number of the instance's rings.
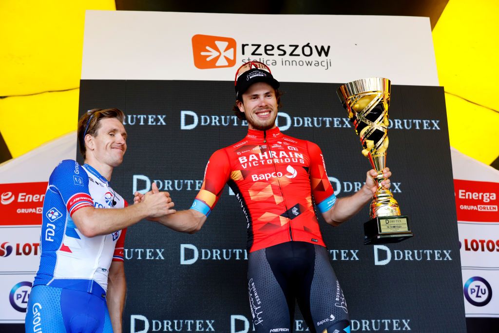
[[[248,60],[281,82],[439,85],[428,17],[86,12],[84,80],[229,81]]]

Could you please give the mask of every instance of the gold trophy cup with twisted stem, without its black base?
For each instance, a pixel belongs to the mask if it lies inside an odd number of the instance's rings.
[[[378,189],[374,194],[369,216],[397,216],[400,208],[390,190],[384,189],[381,182],[386,167],[388,149],[388,106],[390,105],[390,80],[371,77],[343,84],[336,91],[348,111],[355,132],[360,137],[362,154],[369,158],[378,175],[374,178]]]

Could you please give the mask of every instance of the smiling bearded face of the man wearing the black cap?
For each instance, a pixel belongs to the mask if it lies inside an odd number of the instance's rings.
[[[236,101],[238,108],[246,115],[248,127],[260,131],[275,127],[277,98],[275,89],[265,82],[252,84],[242,95],[243,101]]]

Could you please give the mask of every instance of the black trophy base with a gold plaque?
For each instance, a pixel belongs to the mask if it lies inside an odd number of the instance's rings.
[[[364,245],[398,243],[413,236],[407,215],[377,216],[364,223]]]

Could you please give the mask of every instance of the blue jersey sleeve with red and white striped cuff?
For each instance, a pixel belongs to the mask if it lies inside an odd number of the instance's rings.
[[[61,195],[69,216],[80,208],[94,206],[88,191],[88,175],[76,161],[61,161],[52,171],[48,187]]]

